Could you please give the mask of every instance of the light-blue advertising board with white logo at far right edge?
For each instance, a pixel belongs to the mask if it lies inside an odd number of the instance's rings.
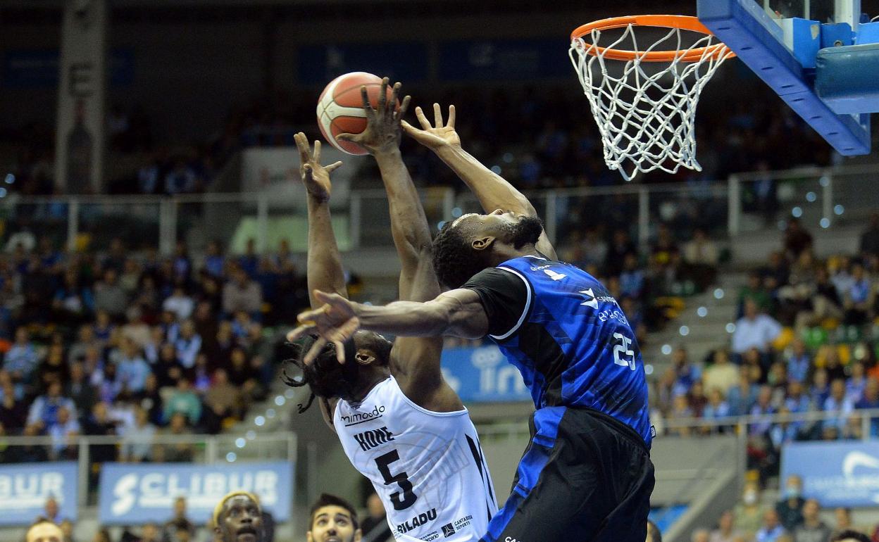
[[[879,442],[791,443],[781,451],[781,480],[803,478],[803,497],[821,506],[863,507],[879,502]]]

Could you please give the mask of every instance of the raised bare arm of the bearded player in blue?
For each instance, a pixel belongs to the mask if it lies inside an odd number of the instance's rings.
[[[415,116],[421,129],[403,121],[403,130],[414,140],[430,148],[458,177],[461,177],[461,180],[476,194],[486,213],[503,209],[527,216],[537,216],[534,206],[522,195],[522,192],[461,148],[461,138],[454,130],[454,105],[448,107],[448,119],[445,124],[439,104],[433,104],[433,126],[420,107],[415,108]],[[537,249],[548,257],[556,258],[556,250],[549,242],[546,232],[537,242]]]

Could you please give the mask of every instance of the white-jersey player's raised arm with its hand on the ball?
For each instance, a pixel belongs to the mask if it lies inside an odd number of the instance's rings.
[[[382,79],[376,109],[369,104],[366,87],[360,89],[367,128],[361,134],[340,134],[338,139],[352,141],[375,157],[388,192],[391,233],[402,267],[400,300],[427,301],[440,292],[433,271],[430,226],[400,155],[400,120],[409,107],[410,97],[403,98],[395,111],[401,85],[394,85],[388,100],[388,83],[387,77]],[[419,406],[458,409],[462,407],[461,401],[445,384],[439,369],[442,341],[441,336],[397,338],[391,352],[391,370],[403,392]]]

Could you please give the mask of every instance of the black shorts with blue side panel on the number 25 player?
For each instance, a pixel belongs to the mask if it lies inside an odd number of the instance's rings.
[[[643,542],[653,491],[643,438],[589,408],[548,407],[486,542]]]

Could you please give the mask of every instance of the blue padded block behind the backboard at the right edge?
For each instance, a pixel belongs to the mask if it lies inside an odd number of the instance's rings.
[[[879,112],[879,43],[829,47],[817,56],[815,91],[838,113]]]

